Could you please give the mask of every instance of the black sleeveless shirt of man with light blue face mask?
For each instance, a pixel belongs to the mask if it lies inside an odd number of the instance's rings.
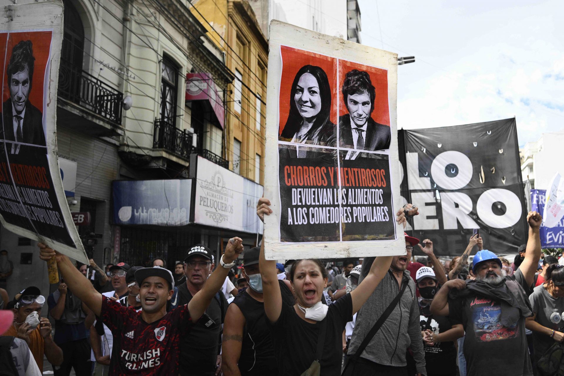
[[[294,297],[283,281],[278,281],[282,301],[288,306],[294,305]],[[258,302],[247,291],[233,299],[245,317],[243,343],[239,357],[241,376],[277,376],[278,366],[274,356],[274,345],[266,321],[265,303]]]

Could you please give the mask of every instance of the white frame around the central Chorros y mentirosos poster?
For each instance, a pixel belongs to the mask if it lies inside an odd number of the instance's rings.
[[[390,182],[392,184],[391,220],[395,224],[395,240],[342,241],[342,242],[280,242],[280,194],[278,166],[279,92],[282,74],[280,46],[289,46],[386,69],[390,109],[391,143],[389,149]],[[347,258],[363,256],[406,254],[403,225],[395,221],[395,213],[401,207],[399,184],[401,182],[398,158],[397,84],[398,55],[358,43],[345,41],[311,30],[272,20],[270,23],[270,50],[268,55],[268,80],[266,99],[266,156],[265,197],[271,202],[271,215],[265,215],[265,255],[268,260],[303,258]]]

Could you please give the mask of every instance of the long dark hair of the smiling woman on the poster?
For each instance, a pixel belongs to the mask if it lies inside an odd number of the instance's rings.
[[[317,80],[319,85],[319,96],[321,98],[321,109],[315,116],[314,125],[311,127],[311,130],[313,132],[319,130],[329,121],[329,114],[331,114],[331,86],[329,86],[327,73],[315,65],[304,65],[298,70],[296,77],[294,77],[294,82],[292,82],[292,88],[290,89],[290,112],[288,114],[286,125],[284,125],[284,129],[280,134],[283,138],[293,138],[302,124],[303,117],[299,113],[294,96],[296,95],[298,81],[305,73],[310,73]]]

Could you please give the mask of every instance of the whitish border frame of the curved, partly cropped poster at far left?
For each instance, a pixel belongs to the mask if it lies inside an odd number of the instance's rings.
[[[17,235],[25,236],[32,240],[40,241],[82,263],[89,264],[88,257],[78,236],[78,231],[74,226],[72,215],[65,197],[63,181],[59,169],[56,135],[56,110],[57,110],[57,89],[59,85],[59,63],[61,56],[61,46],[63,43],[63,2],[52,0],[21,5],[6,5],[0,8],[0,32],[39,32],[51,31],[51,51],[50,60],[46,68],[46,79],[49,79],[47,90],[43,92],[45,102],[43,118],[46,119],[46,144],[47,158],[55,194],[63,214],[63,221],[67,228],[70,238],[76,244],[76,248],[51,240],[45,236],[29,231],[28,229],[7,223],[3,218],[2,225],[8,231]]]

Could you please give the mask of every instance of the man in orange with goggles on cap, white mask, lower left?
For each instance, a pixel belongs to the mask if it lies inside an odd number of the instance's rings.
[[[51,338],[51,323],[45,317],[39,317],[44,304],[45,297],[37,287],[30,286],[16,294],[9,304],[14,308],[15,321],[3,334],[25,340],[41,372],[43,355],[52,365],[63,362],[63,351]]]

